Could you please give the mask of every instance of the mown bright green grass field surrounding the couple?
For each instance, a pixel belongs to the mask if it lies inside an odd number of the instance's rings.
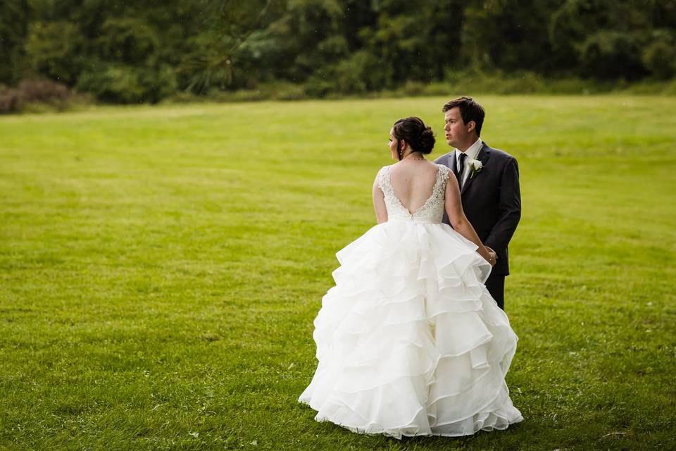
[[[0,118],[0,450],[675,449],[675,97],[478,99],[520,162],[524,422],[398,441],[296,403],[389,128],[439,156],[446,100]]]

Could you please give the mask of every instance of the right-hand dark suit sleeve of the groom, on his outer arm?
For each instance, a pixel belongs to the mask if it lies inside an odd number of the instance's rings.
[[[519,165],[511,158],[502,171],[498,221],[488,235],[485,245],[497,252],[507,249],[521,218],[521,191],[519,188]]]

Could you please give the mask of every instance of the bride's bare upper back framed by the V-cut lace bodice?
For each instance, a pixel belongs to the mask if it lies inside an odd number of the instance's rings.
[[[413,214],[432,196],[439,166],[427,160],[400,161],[392,165],[392,187],[399,202]]]

